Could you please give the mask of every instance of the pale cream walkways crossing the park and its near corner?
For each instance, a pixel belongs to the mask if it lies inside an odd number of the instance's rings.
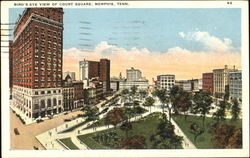
[[[156,99],[156,106],[154,107],[151,107],[151,112],[148,111],[148,112],[145,112],[144,114],[142,115],[138,115],[138,116],[135,116],[133,118],[130,119],[130,121],[137,121],[139,120],[140,118],[142,117],[145,117],[147,115],[149,115],[150,113],[153,113],[153,112],[162,112],[162,109],[159,108],[159,106],[161,105],[160,101]],[[100,103],[101,104],[101,103]],[[119,107],[119,106],[113,106],[113,107],[110,107],[108,111],[112,110],[113,108],[115,107]],[[100,107],[100,111],[103,110],[104,108],[106,107]],[[107,112],[108,112],[107,111]],[[100,119],[102,119],[106,113],[105,112],[104,114],[101,114],[100,115]],[[168,111],[165,110],[165,113],[166,113],[166,116],[168,116]],[[53,128],[49,131],[46,131],[38,136],[36,136],[36,138],[40,141],[40,143],[48,150],[50,149],[53,149],[53,150],[65,150],[67,149],[67,147],[64,146],[64,144],[60,143],[60,139],[63,139],[63,138],[71,138],[71,141],[81,150],[86,150],[86,149],[89,149],[87,147],[86,144],[84,144],[83,142],[81,142],[77,136],[79,135],[85,135],[85,134],[90,134],[90,133],[94,133],[94,132],[99,132],[99,131],[103,131],[103,130],[107,130],[109,128],[113,128],[114,126],[113,125],[106,125],[106,126],[101,126],[101,127],[97,127],[97,128],[89,128],[89,129],[84,129],[86,128],[88,125],[91,125],[93,124],[94,122],[91,121],[91,122],[88,122],[76,129],[74,129],[73,131],[71,132],[66,132],[66,133],[61,133],[62,131],[65,131],[71,127],[74,127],[76,125],[78,125],[79,123],[82,123],[85,121],[85,118],[77,118],[73,121],[70,121],[68,123],[65,123],[61,126],[58,126],[56,128]],[[184,134],[184,132],[180,129],[180,127],[176,124],[176,122],[171,119],[171,123],[174,125],[175,127],[175,133],[176,135],[179,135],[179,136],[182,136],[183,137],[183,142],[182,142],[182,145],[183,145],[183,148],[184,149],[195,149],[196,147],[193,145],[193,143],[187,138],[187,136]],[[121,125],[118,124],[118,126]],[[58,133],[59,132],[59,133]]]

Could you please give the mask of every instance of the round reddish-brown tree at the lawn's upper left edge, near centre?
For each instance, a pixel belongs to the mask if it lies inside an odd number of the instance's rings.
[[[122,122],[125,119],[124,110],[122,108],[114,108],[109,111],[106,116],[106,122],[112,125],[117,126],[118,123]]]

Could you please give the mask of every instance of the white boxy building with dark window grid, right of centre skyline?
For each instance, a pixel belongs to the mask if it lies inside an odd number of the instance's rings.
[[[168,92],[175,85],[175,75],[166,74],[157,76],[157,88],[166,89]]]

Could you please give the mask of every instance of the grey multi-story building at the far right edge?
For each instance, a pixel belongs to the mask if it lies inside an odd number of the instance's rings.
[[[242,99],[242,72],[232,71],[228,74],[230,98]]]

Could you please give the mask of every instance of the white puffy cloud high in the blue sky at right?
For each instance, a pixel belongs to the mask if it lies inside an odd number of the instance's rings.
[[[185,36],[185,39],[189,41],[195,41],[195,42],[201,43],[204,51],[207,51],[207,52],[237,52],[238,51],[236,48],[233,47],[231,39],[224,38],[221,40],[218,37],[210,35],[208,32],[202,32],[202,31],[189,32]]]

